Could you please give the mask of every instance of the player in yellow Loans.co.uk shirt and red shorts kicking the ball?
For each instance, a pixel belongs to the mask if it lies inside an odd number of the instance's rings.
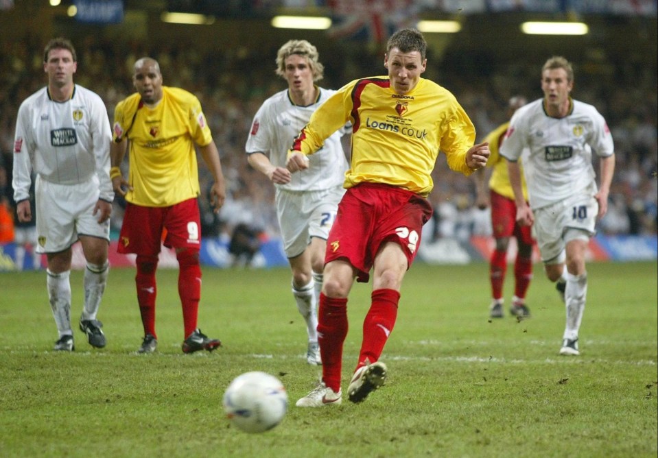
[[[366,77],[340,88],[311,116],[288,152],[292,172],[309,166],[325,138],[346,122],[353,126],[347,189],[338,206],[325,256],[318,341],[322,383],[298,407],[338,405],[342,346],[347,335],[347,297],[355,278],[367,282],[373,269],[371,308],[347,394],[361,402],[384,385],[379,361],[397,318],[402,280],[432,215],[427,195],[439,151],[451,169],[470,175],[486,165],[489,146],[473,145],[475,128],[454,95],[421,74],[427,66],[421,32],[402,29],[388,40],[388,75]]]

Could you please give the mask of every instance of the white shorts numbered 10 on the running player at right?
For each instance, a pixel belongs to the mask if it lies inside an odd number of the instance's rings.
[[[589,240],[596,234],[598,202],[596,188],[590,186],[577,194],[534,210],[532,234],[544,263],[563,263],[565,245],[574,239]]]

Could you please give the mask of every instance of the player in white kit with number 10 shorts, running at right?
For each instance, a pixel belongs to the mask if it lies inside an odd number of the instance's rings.
[[[585,252],[596,221],[608,208],[615,170],[612,135],[589,104],[572,99],[572,65],[548,59],[541,71],[544,97],[513,115],[500,154],[508,159],[517,204],[517,221],[533,224],[546,276],[556,282],[566,305],[560,354],[578,355],[578,330],[587,296]],[[528,147],[523,155],[524,147]],[[592,167],[599,157],[599,186]],[[517,160],[522,158],[530,204],[521,192]],[[566,268],[565,268],[566,266]]]

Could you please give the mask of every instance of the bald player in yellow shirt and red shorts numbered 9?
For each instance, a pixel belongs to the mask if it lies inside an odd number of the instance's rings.
[[[199,100],[183,89],[163,86],[156,60],[137,60],[132,82],[137,93],[115,108],[110,178],[115,192],[126,198],[118,252],[137,254],[135,282],[144,327],[138,352],[154,352],[157,346],[155,272],[161,243],[175,248],[180,268],[183,352],[212,351],[220,346],[220,341],[210,339],[197,328],[201,232],[195,145],[215,179],[211,188],[215,212],[226,196],[220,155]],[[128,180],[124,180],[119,168],[126,149],[130,159]]]

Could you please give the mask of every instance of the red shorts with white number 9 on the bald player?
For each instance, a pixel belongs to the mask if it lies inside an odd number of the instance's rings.
[[[200,228],[196,199],[168,207],[145,207],[128,202],[117,252],[154,255],[160,252],[161,243],[167,248],[199,250]]]

